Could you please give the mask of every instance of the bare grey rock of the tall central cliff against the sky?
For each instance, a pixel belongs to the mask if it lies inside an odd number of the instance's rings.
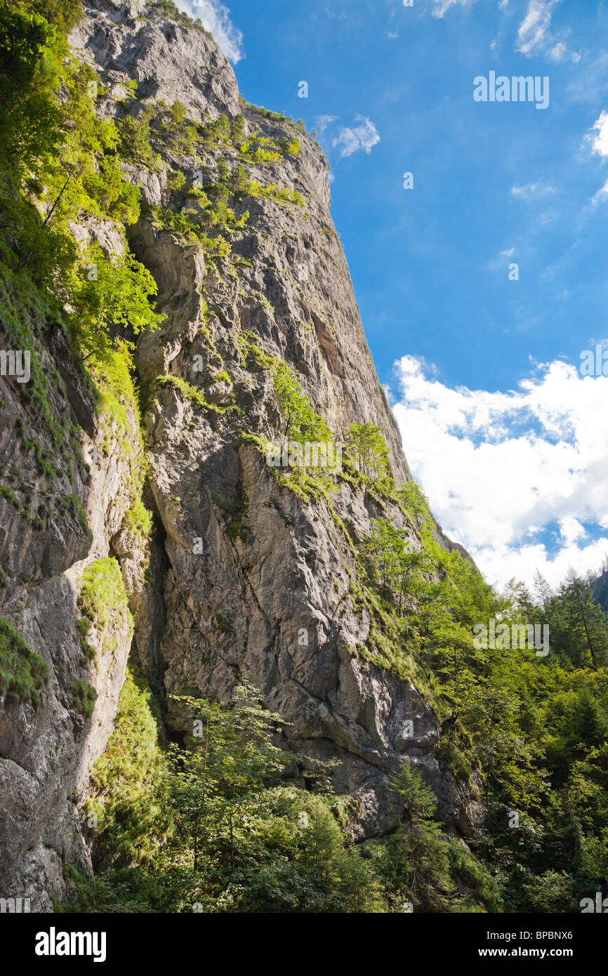
[[[356,654],[368,638],[369,620],[356,612],[349,593],[356,570],[340,525],[347,523],[352,537],[362,538],[380,509],[346,481],[331,506],[304,504],[277,485],[254,447],[239,445],[242,428],[271,438],[281,426],[268,373],[252,369],[239,345],[239,337],[249,335],[265,355],[293,367],[339,437],[354,421],[381,427],[395,479],[411,476],[331,219],[327,161],[318,144],[287,120],[239,103],[232,70],[206,34],[162,18],[140,25],[132,18],[142,5],[120,6],[126,13],[118,22],[108,3],[90,4],[73,38],[102,84],[137,79],[142,104],[136,111],[150,98],[178,99],[194,121],[243,112],[249,132],[260,130],[274,142],[297,137],[297,156],[249,162],[247,177],[304,198],[304,206],[267,197],[236,202],[237,217],[247,209],[249,219],[233,234],[225,261],[206,261],[200,248],[176,242],[145,217],[133,235],[168,315],[159,331],[140,341],[142,382],[153,386],[159,376],[177,377],[212,405],[205,409],[179,385],[168,385],[157,388],[145,416],[149,484],[166,533],[168,565],[165,635],[158,651],[143,653],[159,656],[170,694],[195,688],[227,700],[248,675],[268,707],[284,717],[292,748],[341,760],[334,781],[340,792],[357,798],[359,837],[391,826],[387,775],[403,756],[426,770],[445,819],[466,826],[474,814],[435,758],[438,723],[425,699]],[[104,103],[103,110],[111,112],[111,105]],[[214,183],[221,159],[231,170],[240,162],[239,153],[225,146],[197,144],[191,158],[169,150],[162,155],[186,186],[197,176]],[[164,171],[158,179],[137,168],[131,175],[150,206],[164,199]],[[203,372],[196,368],[200,360]],[[213,409],[214,401],[231,402],[227,395],[223,401],[222,384],[214,383],[220,369],[229,376],[236,408],[225,413]],[[391,514],[402,520],[398,510]],[[437,534],[451,546],[438,527]],[[414,531],[413,544],[420,545]],[[169,716],[175,728],[186,730],[187,719],[171,705]],[[411,737],[403,731],[408,720]]]

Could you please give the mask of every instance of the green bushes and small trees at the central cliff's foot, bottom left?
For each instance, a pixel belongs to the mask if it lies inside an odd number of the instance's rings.
[[[383,910],[380,881],[347,841],[335,798],[284,785],[278,716],[252,688],[227,707],[178,697],[192,734],[167,752],[150,706],[128,675],[85,811],[97,817],[101,871],[93,884],[69,872],[77,896],[63,911]]]

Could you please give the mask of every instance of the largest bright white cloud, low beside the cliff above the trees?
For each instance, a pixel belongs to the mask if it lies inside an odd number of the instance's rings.
[[[451,389],[413,356],[396,373],[410,467],[490,582],[530,584],[538,568],[554,586],[570,565],[599,566],[608,552],[607,377],[582,379],[555,361],[516,390]]]

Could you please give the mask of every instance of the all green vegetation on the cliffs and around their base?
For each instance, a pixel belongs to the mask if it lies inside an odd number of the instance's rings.
[[[66,44],[78,11],[75,0],[0,0],[2,328],[11,346],[31,353],[31,382],[18,391],[23,452],[33,455],[42,477],[65,473],[74,480],[79,472],[87,478],[66,383],[45,365],[51,338],[59,333],[67,365],[101,415],[101,452],[121,445],[130,489],[125,524],[142,541],[151,517],[141,500],[132,353],[142,331],[161,327],[165,316],[153,306],[150,272],[128,245],[128,228],[142,207],[126,173],[137,166],[164,175],[162,204],[146,216],[183,247],[199,247],[208,272],[225,284],[234,279],[235,265],[247,265],[238,255],[227,259],[235,239],[255,224],[254,201],[271,200],[294,219],[307,216],[299,191],[252,179],[248,172],[254,166],[296,165],[302,127],[288,120],[288,136],[277,140],[245,115],[196,124],[180,102],[142,105],[135,84],[127,86],[129,97],[116,120],[98,115],[103,93],[97,74],[76,61]],[[169,0],[157,2],[151,15],[190,24]],[[285,131],[282,116],[246,111],[248,117],[281,123]],[[199,152],[206,153],[206,175],[188,183],[179,167],[185,159],[192,167],[202,165]],[[74,223],[102,227],[112,247],[82,243]],[[259,287],[254,282],[248,300],[266,317],[274,315]],[[213,346],[206,316],[204,328]],[[334,438],[292,368],[246,332],[235,343],[245,370],[269,374],[280,436],[298,444]],[[214,355],[215,379],[232,386],[217,350]],[[153,388],[163,386],[216,420],[235,409],[232,402],[211,403],[201,388],[179,376],[161,376]],[[243,438],[261,451],[267,447],[251,430]],[[385,442],[374,425],[355,423],[345,433],[342,471],[274,475],[279,487],[304,504],[329,506],[352,556],[348,598],[370,622],[367,640],[352,654],[414,681],[425,695],[442,725],[437,757],[444,774],[483,802],[481,827],[469,840],[470,850],[449,837],[435,818],[428,789],[403,765],[392,781],[396,829],[355,846],[348,803],[331,793],[310,763],[276,747],[281,721],[263,711],[251,689],[228,706],[182,699],[192,732],[169,746],[145,683],[130,674],[114,732],[93,770],[85,811],[97,880],[66,872],[76,882],[71,907],[576,911],[608,863],[608,623],[588,581],[571,574],[552,592],[539,580],[534,595],[515,583],[503,594],[492,590],[459,552],[439,545],[421,490],[413,482],[393,484]],[[345,483],[371,503],[372,529],[365,538],[333,506]],[[34,513],[21,500],[22,488],[17,481],[3,485],[0,496],[31,515],[34,527],[45,524],[53,505],[90,538],[77,495],[50,492],[48,504]],[[247,543],[242,485],[232,503],[219,496],[214,502],[228,538]],[[276,500],[270,504],[280,510]],[[290,516],[282,517],[293,527]],[[0,584],[7,580],[2,569]],[[605,595],[599,581],[596,593]],[[128,614],[114,559],[87,566],[78,603],[88,666],[95,655],[91,631],[111,641],[112,622]],[[548,627],[547,655],[535,646],[479,646],[474,629],[490,621],[509,631]],[[229,633],[220,614],[214,626]],[[39,707],[47,680],[45,661],[2,619],[0,695]],[[91,716],[95,689],[77,678],[70,703]],[[286,785],[287,762],[299,767],[298,782],[307,789]]]

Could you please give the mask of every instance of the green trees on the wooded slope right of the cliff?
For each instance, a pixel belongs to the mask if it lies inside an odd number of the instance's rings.
[[[555,593],[539,578],[536,597],[514,582],[499,595],[458,552],[438,545],[417,485],[392,498],[408,527],[375,519],[357,547],[351,596],[371,618],[357,653],[426,687],[442,723],[437,757],[471,789],[481,785],[486,807],[473,861],[448,850],[451,874],[465,877],[472,902],[454,902],[439,875],[435,892],[449,911],[479,902],[490,911],[576,911],[576,892],[579,900],[592,895],[608,855],[600,798],[608,785],[608,620],[589,582],[573,573]],[[409,545],[412,532],[422,549]],[[517,644],[480,649],[473,627],[492,619],[509,632],[547,625],[549,654]],[[414,862],[425,856],[426,842],[408,842]]]

